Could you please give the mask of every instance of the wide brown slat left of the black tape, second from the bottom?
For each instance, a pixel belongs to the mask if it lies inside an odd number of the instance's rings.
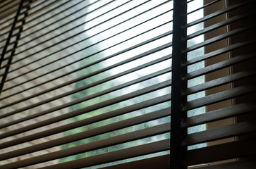
[[[92,156],[89,158],[82,158],[75,161],[47,166],[41,169],[63,169],[63,168],[83,168],[92,165],[99,165],[102,163],[109,163],[112,161],[118,161],[126,158],[132,158],[135,156],[142,156],[146,154],[152,154],[159,151],[165,151],[169,149],[169,139],[165,139],[159,142],[153,142],[150,144],[144,144],[141,146],[133,146],[128,149],[122,149],[118,151],[109,152],[99,156]],[[7,169],[7,168],[6,168]]]

